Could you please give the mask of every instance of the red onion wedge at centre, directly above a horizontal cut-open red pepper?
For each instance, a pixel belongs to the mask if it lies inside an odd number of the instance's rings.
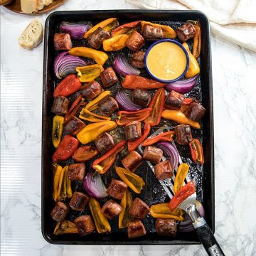
[[[134,102],[132,102],[129,92],[127,90],[119,90],[117,92],[117,95],[115,96],[115,99],[117,100],[119,108],[122,110],[137,111],[137,110],[142,110],[143,108],[137,104],[134,104]]]

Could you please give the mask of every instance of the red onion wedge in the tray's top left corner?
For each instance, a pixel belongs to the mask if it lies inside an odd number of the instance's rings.
[[[60,31],[62,33],[69,33],[73,39],[82,39],[85,33],[92,27],[90,22],[68,22],[60,23]]]

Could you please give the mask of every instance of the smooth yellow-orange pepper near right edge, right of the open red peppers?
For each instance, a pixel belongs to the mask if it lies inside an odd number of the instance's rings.
[[[188,119],[185,114],[177,110],[164,110],[161,117],[177,122],[178,124],[189,124],[191,127],[195,127],[196,129],[200,129],[201,127],[198,122]]]

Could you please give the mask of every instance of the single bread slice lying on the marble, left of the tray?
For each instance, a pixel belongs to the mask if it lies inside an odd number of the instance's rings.
[[[32,50],[43,41],[43,26],[39,18],[34,18],[28,24],[21,36],[18,38],[18,44],[28,50]]]

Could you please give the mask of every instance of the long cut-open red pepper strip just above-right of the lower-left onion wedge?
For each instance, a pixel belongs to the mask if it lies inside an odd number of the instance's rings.
[[[124,149],[124,145],[126,143],[127,141],[123,140],[122,142],[114,145],[114,147],[110,149],[110,151],[107,151],[107,153],[104,154],[102,157],[93,161],[92,168],[98,171],[100,174],[105,174],[105,172],[110,169],[110,167],[114,163],[117,154]]]

